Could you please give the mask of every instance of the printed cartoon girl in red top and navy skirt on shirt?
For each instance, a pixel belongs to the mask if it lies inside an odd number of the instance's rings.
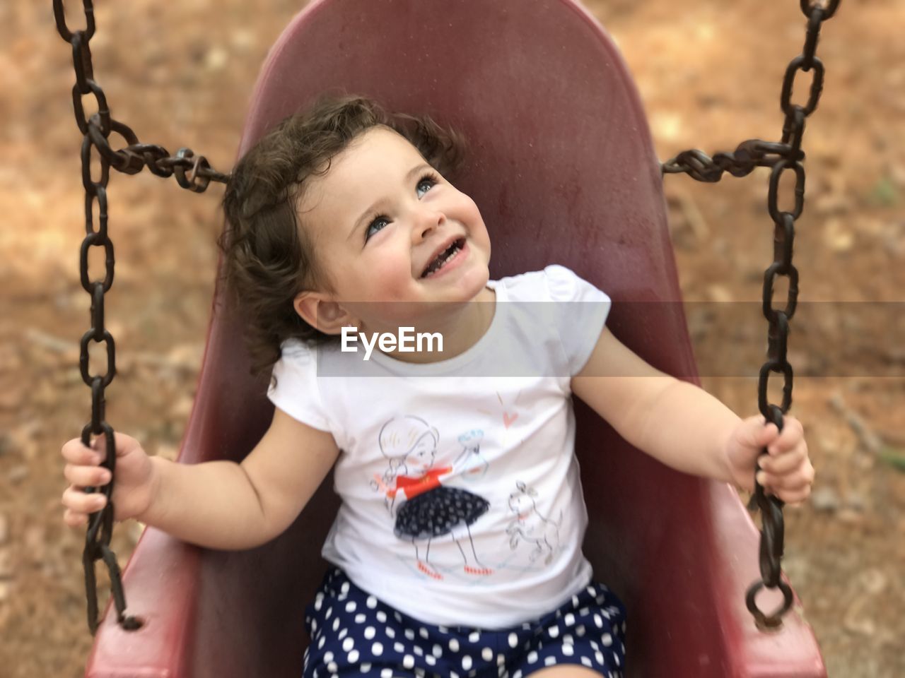
[[[387,421],[380,429],[378,443],[388,466],[383,477],[375,474],[371,487],[385,494],[386,508],[391,517],[395,514],[395,536],[412,542],[418,570],[433,579],[443,579],[431,564],[431,542],[449,535],[462,554],[466,573],[490,575],[493,570],[478,560],[470,526],[487,513],[491,504],[468,490],[441,483],[442,476],[452,473],[452,466],[434,467],[439,439],[437,429],[420,417],[406,415]],[[466,447],[459,458],[473,454]],[[397,508],[400,494],[405,503]],[[465,537],[468,543],[463,548]],[[419,544],[425,541],[422,559]]]

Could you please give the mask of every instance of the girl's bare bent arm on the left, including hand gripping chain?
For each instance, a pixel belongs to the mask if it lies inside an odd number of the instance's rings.
[[[136,518],[177,539],[224,550],[260,546],[289,527],[339,454],[329,433],[279,409],[241,464],[177,464],[148,457],[137,440],[119,433],[116,446],[117,520]],[[72,485],[63,493],[63,504],[72,526],[103,506],[102,494],[81,491],[110,481],[109,473],[98,468],[102,452],[84,447],[79,439],[62,449],[70,462],[65,475]]]

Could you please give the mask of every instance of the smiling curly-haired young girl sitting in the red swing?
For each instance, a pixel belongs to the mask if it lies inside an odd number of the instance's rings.
[[[249,549],[334,467],[334,567],[307,610],[306,678],[621,675],[625,610],[581,552],[571,394],[681,471],[750,490],[759,464],[793,504],[814,478],[802,427],[738,419],[644,363],[605,328],[609,298],[566,268],[490,280],[481,212],[446,178],[453,142],[429,120],[325,99],[242,159],[224,270],[255,365],[272,370],[271,426],[241,464],[173,464],[117,434],[115,517]],[[414,328],[443,350],[381,339],[363,357],[339,341],[349,327]],[[62,447],[71,526],[103,506],[83,492],[110,482],[103,452],[102,438]]]

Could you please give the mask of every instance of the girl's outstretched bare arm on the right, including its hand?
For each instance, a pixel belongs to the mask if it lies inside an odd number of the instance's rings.
[[[779,438],[762,417],[742,421],[707,391],[645,363],[606,328],[572,390],[634,447],[680,471],[751,490],[760,447],[769,444],[781,458],[761,461],[771,472],[762,485],[785,486],[779,494],[800,501],[814,479],[797,421]]]

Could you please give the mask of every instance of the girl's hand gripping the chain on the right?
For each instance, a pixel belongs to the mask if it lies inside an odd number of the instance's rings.
[[[769,494],[775,494],[786,504],[800,505],[811,494],[814,466],[807,456],[805,429],[795,417],[786,415],[782,433],[776,424],[764,426],[766,419],[757,415],[738,424],[729,438],[726,457],[732,481],[748,492],[754,491],[754,470],[757,482]],[[767,455],[760,451],[767,447]]]

